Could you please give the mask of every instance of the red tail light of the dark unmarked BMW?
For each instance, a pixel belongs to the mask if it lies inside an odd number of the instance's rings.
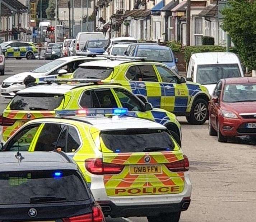
[[[93,207],[92,213],[83,214],[76,217],[63,218],[64,222],[104,222],[104,216],[100,208]]]

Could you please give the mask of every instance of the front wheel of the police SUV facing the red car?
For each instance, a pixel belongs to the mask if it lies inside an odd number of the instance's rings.
[[[189,124],[201,125],[208,119],[208,102],[204,99],[197,99],[192,105],[190,115],[186,117]]]

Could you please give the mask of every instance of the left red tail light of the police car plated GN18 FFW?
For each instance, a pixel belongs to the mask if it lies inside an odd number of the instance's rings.
[[[119,174],[124,165],[104,163],[101,158],[85,160],[85,168],[92,174]]]

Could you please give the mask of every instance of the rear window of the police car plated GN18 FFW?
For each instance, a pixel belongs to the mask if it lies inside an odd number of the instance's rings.
[[[150,152],[173,150],[171,136],[159,129],[103,131],[104,145],[113,152]]]

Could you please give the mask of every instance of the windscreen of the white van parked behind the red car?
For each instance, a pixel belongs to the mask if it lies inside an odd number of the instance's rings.
[[[202,85],[217,84],[220,79],[241,77],[238,64],[198,65],[196,82]]]

